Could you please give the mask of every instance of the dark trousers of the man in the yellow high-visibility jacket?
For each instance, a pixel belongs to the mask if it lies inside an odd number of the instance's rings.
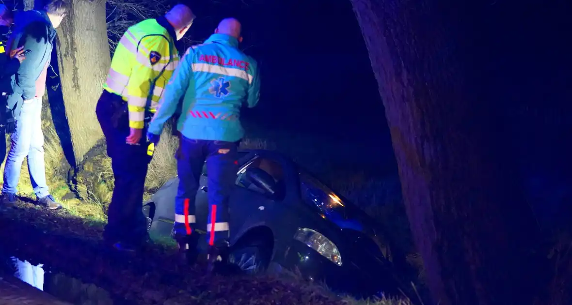
[[[145,176],[150,162],[147,155],[146,130],[140,145],[129,145],[129,118],[125,102],[105,91],[97,102],[96,114],[112,159],[115,186],[108,210],[104,238],[109,242],[141,243],[148,239],[142,212]]]

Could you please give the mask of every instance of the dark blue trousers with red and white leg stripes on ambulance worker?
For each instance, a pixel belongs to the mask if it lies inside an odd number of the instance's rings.
[[[177,151],[179,186],[175,201],[175,237],[196,230],[195,197],[206,160],[209,213],[206,238],[210,246],[229,238],[228,199],[236,179],[238,142],[181,137]],[[205,229],[205,228],[200,228]]]

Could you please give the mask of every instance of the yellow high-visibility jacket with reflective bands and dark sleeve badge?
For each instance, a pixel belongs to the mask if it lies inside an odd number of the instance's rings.
[[[178,65],[173,26],[165,17],[129,27],[117,45],[104,89],[128,104],[129,127],[144,127],[145,110],[155,113]]]

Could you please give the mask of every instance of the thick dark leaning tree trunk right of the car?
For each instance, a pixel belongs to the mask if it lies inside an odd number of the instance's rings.
[[[435,302],[530,303],[534,265],[525,262],[538,235],[508,177],[502,105],[487,78],[494,54],[478,49],[488,39],[476,34],[490,22],[488,3],[352,3]]]

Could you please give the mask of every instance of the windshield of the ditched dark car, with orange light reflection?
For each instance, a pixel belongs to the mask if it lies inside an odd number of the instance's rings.
[[[324,212],[344,207],[335,192],[304,171],[300,171],[300,189],[304,200],[315,204]]]

